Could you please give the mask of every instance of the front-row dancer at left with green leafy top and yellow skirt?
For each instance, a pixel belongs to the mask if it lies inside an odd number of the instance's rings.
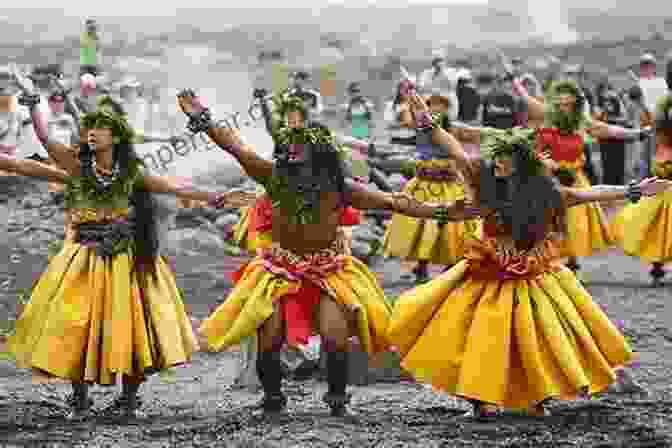
[[[36,135],[68,174],[69,229],[16,322],[9,351],[38,379],[72,383],[70,418],[87,415],[88,385],[115,385],[117,375],[123,393],[110,410],[139,416],[146,375],[188,362],[198,347],[173,273],[157,254],[151,193],[213,206],[248,205],[254,196],[201,192],[144,174],[127,121],[106,109],[83,116],[88,139],[75,155],[49,139],[39,94],[23,89]]]

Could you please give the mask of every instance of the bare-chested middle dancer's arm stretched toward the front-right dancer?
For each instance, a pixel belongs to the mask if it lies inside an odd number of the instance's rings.
[[[347,182],[351,204],[360,210],[392,210],[414,218],[436,219],[439,223],[464,221],[478,215],[478,211],[467,207],[464,201],[446,204],[420,202],[405,193],[372,191],[357,182]]]

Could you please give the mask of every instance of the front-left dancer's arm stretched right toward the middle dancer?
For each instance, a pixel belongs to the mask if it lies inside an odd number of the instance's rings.
[[[181,199],[205,201],[217,208],[241,208],[253,205],[257,195],[245,191],[214,193],[196,188],[188,179],[172,179],[165,176],[145,175],[142,179],[147,191],[157,194],[172,194]]]

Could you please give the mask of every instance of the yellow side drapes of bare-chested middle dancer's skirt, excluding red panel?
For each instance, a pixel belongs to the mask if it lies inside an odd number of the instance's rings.
[[[225,350],[243,337],[254,335],[271,317],[276,302],[303,286],[302,280],[288,280],[267,266],[262,257],[248,264],[226,300],[203,321],[199,333],[210,351]],[[344,256],[343,266],[320,283],[322,290],[337,303],[358,309],[357,336],[367,353],[383,352],[389,347],[385,336],[391,307],[375,274],[365,264]]]

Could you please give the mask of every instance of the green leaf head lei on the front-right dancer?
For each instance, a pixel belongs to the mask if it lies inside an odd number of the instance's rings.
[[[527,163],[527,172],[540,174],[544,165],[536,154],[536,129],[516,127],[512,129],[492,129],[482,131],[481,151],[488,159],[513,157],[516,151],[524,151],[522,160]]]

